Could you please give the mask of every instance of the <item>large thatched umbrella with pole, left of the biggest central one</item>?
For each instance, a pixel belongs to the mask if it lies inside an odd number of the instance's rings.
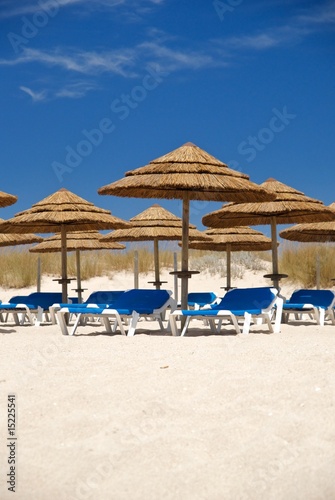
[[[91,229],[127,227],[128,223],[114,217],[109,210],[96,207],[80,196],[60,189],[35,203],[32,208],[0,223],[0,233],[61,233],[62,242],[62,301],[67,302],[66,233]]]

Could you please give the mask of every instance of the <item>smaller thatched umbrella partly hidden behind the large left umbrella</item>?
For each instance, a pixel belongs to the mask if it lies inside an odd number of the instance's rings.
[[[1,235],[0,235],[1,236]],[[61,235],[55,234],[46,238],[39,245],[35,245],[30,248],[29,252],[33,253],[48,253],[48,252],[60,252],[61,246]],[[102,234],[99,231],[77,231],[73,233],[67,233],[66,235],[66,247],[68,252],[76,252],[76,269],[77,269],[77,293],[78,302],[82,302],[82,292],[81,288],[81,273],[80,273],[80,251],[87,250],[123,250],[125,245],[121,245],[117,242],[108,242],[102,240]]]

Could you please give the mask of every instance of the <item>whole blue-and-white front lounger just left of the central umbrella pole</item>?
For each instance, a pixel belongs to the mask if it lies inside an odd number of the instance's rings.
[[[67,305],[57,311],[58,323],[63,335],[74,335],[82,317],[93,316],[100,318],[107,332],[120,329],[123,335],[132,336],[135,333],[137,322],[140,317],[151,318],[158,321],[162,330],[164,325],[162,317],[166,309],[171,308],[173,311],[177,306],[176,301],[171,297],[171,292],[168,290],[147,290],[133,289],[124,292],[116,301],[109,307],[74,307]],[[75,312],[77,314],[76,322],[69,332],[66,325],[66,314]],[[110,321],[114,322],[114,329]],[[128,332],[124,328],[124,322],[129,321]]]

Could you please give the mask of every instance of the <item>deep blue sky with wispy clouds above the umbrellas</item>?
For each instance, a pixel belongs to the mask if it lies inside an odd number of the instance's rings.
[[[335,201],[334,1],[2,0],[0,26],[2,218],[66,187],[129,219],[157,200],[97,189],[188,141]]]

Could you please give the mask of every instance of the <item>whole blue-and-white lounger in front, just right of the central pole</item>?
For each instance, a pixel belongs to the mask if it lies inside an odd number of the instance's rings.
[[[280,332],[283,299],[278,296],[278,290],[271,287],[235,288],[229,290],[222,300],[208,309],[176,310],[170,314],[170,325],[173,335],[178,335],[177,318],[186,317],[181,335],[185,335],[192,318],[207,319],[213,332],[220,333],[222,321],[230,321],[241,333],[238,324],[243,319],[242,332],[249,333],[251,320],[260,318],[266,323],[270,332]],[[274,326],[271,321],[275,317]],[[215,323],[217,321],[217,324]]]

